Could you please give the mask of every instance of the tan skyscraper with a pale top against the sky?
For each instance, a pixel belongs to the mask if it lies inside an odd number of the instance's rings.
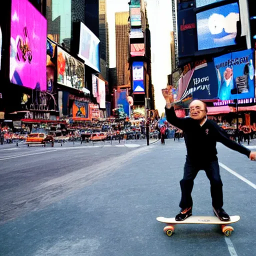
[[[117,85],[128,83],[126,63],[128,62],[129,42],[129,12],[115,13],[115,47],[116,47],[116,71]]]

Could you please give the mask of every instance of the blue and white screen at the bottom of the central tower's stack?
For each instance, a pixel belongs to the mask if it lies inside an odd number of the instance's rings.
[[[142,61],[132,63],[133,93],[144,93],[144,67]]]

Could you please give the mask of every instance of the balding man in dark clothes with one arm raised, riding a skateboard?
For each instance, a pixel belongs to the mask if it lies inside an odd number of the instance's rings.
[[[173,96],[169,89],[162,89],[166,100],[166,119],[172,125],[183,130],[186,144],[186,161],[183,178],[180,180],[181,200],[180,212],[175,219],[181,221],[192,215],[193,180],[199,170],[204,170],[210,181],[210,193],[212,207],[215,215],[222,221],[230,220],[228,214],[222,208],[223,194],[222,181],[219,175],[216,142],[247,155],[255,160],[256,152],[251,152],[246,147],[228,138],[225,131],[214,121],[207,119],[206,104],[200,100],[193,100],[189,105],[190,116],[178,118],[173,107]]]

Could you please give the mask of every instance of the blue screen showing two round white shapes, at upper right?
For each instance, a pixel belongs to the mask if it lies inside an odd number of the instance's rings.
[[[234,45],[239,20],[237,2],[196,14],[198,50]]]

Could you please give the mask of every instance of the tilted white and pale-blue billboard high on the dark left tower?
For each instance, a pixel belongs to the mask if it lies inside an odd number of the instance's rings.
[[[80,22],[80,39],[78,56],[87,66],[100,72],[99,39],[90,29]]]

